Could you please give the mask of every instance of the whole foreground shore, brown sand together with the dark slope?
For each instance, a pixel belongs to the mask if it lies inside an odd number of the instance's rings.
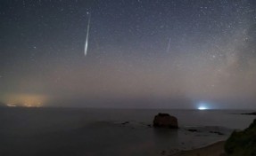
[[[178,152],[174,156],[255,156],[256,119],[242,131],[234,131],[226,142],[218,142],[191,151]]]

